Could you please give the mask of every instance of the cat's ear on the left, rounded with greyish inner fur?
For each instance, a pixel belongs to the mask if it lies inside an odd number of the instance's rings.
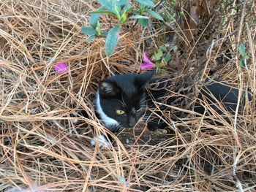
[[[118,96],[121,93],[120,88],[116,85],[115,82],[110,80],[102,80],[99,82],[99,93],[105,97]]]

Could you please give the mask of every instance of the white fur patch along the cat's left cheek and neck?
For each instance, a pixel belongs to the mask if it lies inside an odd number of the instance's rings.
[[[103,112],[102,107],[100,105],[100,101],[99,101],[99,92],[97,92],[96,94],[95,105],[96,105],[96,110],[99,114],[100,120],[105,126],[107,127],[119,126],[119,123],[116,120],[108,117],[108,115],[106,115],[105,112]]]

